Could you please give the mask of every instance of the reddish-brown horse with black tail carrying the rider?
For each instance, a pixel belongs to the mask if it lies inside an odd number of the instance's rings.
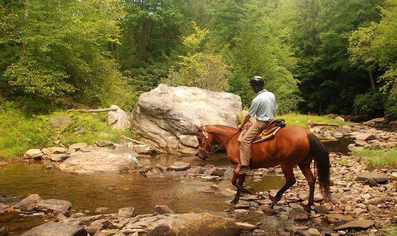
[[[197,128],[197,139],[199,141],[199,152],[197,155],[201,159],[205,160],[214,153],[212,145],[216,142],[224,144],[228,159],[237,166],[240,162],[240,142],[237,139],[241,131],[225,125],[206,125],[197,126]],[[286,177],[286,184],[277,192],[275,197],[271,197],[272,208],[280,201],[284,192],[296,182],[293,168],[298,165],[310,186],[309,202],[305,206],[306,210],[310,210],[314,203],[316,183],[316,177],[310,169],[313,159],[319,177],[320,190],[325,200],[331,200],[328,151],[319,138],[308,130],[297,126],[288,126],[280,129],[274,138],[253,144],[251,147],[251,169],[281,165],[283,174]],[[245,177],[246,175],[233,175],[232,183],[237,187],[237,194],[231,204],[236,204],[239,201],[241,192],[253,194],[253,192],[243,186]]]

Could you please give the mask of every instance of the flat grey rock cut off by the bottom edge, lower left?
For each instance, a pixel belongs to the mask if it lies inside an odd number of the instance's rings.
[[[66,225],[50,221],[21,236],[87,236],[87,231],[79,225]]]

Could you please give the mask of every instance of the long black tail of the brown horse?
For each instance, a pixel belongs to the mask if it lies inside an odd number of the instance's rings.
[[[314,157],[314,167],[320,182],[320,191],[325,201],[332,201],[329,191],[329,153],[320,139],[314,134],[309,134],[310,155]]]

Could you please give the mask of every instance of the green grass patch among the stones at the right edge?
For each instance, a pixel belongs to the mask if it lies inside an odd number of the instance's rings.
[[[362,150],[353,150],[353,154],[367,159],[367,168],[369,170],[376,168],[397,168],[397,149],[371,150],[366,148]]]

